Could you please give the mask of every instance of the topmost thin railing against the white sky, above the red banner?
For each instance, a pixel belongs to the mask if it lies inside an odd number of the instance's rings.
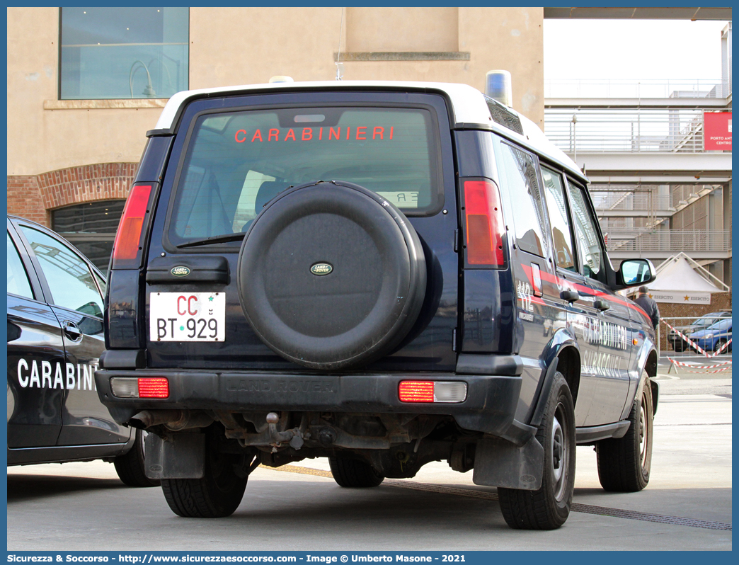
[[[544,81],[544,98],[726,98],[729,93],[729,81],[721,79]]]

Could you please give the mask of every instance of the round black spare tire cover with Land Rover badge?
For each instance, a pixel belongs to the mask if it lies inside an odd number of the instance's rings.
[[[239,253],[239,300],[259,339],[321,370],[390,353],[426,293],[418,234],[383,197],[353,183],[282,192],[250,226]]]

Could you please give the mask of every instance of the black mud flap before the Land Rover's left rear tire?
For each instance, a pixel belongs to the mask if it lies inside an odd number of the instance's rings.
[[[155,433],[144,444],[149,478],[202,478],[205,475],[205,434],[173,433],[163,440]]]

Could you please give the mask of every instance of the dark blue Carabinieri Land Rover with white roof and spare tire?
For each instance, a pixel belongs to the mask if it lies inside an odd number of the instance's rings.
[[[313,457],[342,487],[474,469],[514,528],[565,522],[576,444],[647,484],[655,337],[616,291],[654,268],[613,268],[530,121],[465,85],[288,83],[180,92],[147,136],[95,381],[175,513]]]

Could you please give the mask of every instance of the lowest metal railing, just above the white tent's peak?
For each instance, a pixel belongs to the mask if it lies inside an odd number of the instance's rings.
[[[731,231],[728,229],[645,230],[611,228],[606,231],[608,251],[729,251]]]

